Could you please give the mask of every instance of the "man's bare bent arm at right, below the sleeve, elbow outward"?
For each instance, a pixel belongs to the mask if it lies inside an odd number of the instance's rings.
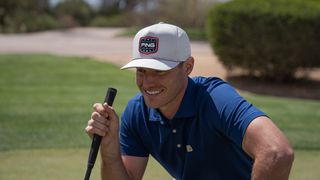
[[[294,155],[287,138],[265,116],[253,120],[242,147],[254,159],[252,179],[288,179]]]

